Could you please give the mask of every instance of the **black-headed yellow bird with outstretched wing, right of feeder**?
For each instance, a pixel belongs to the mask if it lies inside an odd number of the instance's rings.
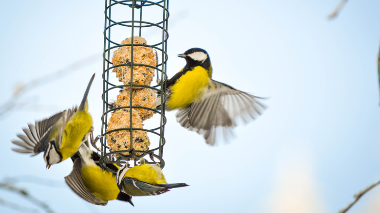
[[[186,66],[166,82],[166,109],[178,109],[177,122],[203,135],[208,144],[215,144],[217,127],[223,127],[226,137],[236,126],[236,118],[247,123],[262,114],[265,106],[258,101],[260,97],[211,79],[211,61],[205,50],[192,48],[178,57],[185,58]],[[156,102],[160,109],[160,93]]]

